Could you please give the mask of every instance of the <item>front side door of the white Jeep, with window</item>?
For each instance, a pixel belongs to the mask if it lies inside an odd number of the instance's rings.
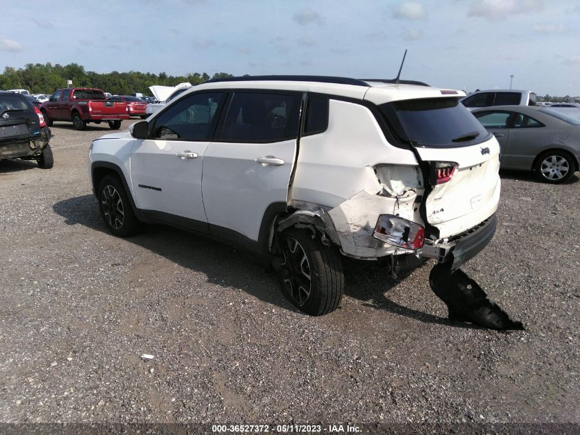
[[[135,140],[131,183],[146,216],[207,231],[201,177],[203,154],[224,100],[220,92],[194,93],[150,121],[150,137]]]

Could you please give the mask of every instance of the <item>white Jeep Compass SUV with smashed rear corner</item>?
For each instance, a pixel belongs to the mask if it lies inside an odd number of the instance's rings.
[[[272,262],[312,315],[336,309],[342,256],[456,270],[487,245],[499,146],[461,91],[406,80],[209,80],[91,144],[108,229],[167,223]]]

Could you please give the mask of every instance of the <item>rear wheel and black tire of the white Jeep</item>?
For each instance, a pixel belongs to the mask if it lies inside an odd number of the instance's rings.
[[[310,315],[324,315],[337,309],[345,288],[338,250],[323,245],[312,232],[296,229],[283,232],[279,244],[283,260],[278,273],[283,295]]]

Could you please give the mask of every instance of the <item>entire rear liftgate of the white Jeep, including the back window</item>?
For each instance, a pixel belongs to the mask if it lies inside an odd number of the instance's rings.
[[[456,98],[382,105],[397,135],[430,164],[428,223],[441,238],[478,225],[496,211],[500,146]]]

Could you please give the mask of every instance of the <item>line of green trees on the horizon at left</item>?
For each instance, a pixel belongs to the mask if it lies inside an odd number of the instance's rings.
[[[27,89],[30,93],[51,94],[56,89],[67,87],[67,80],[72,80],[73,87],[97,87],[105,92],[117,95],[128,95],[131,92],[140,92],[150,95],[152,85],[175,86],[178,83],[190,82],[198,85],[210,78],[232,77],[227,73],[216,73],[209,76],[207,73],[191,73],[185,76],[170,76],[142,73],[138,71],[99,74],[94,71],[85,71],[82,65],[52,65],[51,63],[28,63],[23,68],[5,67],[0,74],[0,89]]]

